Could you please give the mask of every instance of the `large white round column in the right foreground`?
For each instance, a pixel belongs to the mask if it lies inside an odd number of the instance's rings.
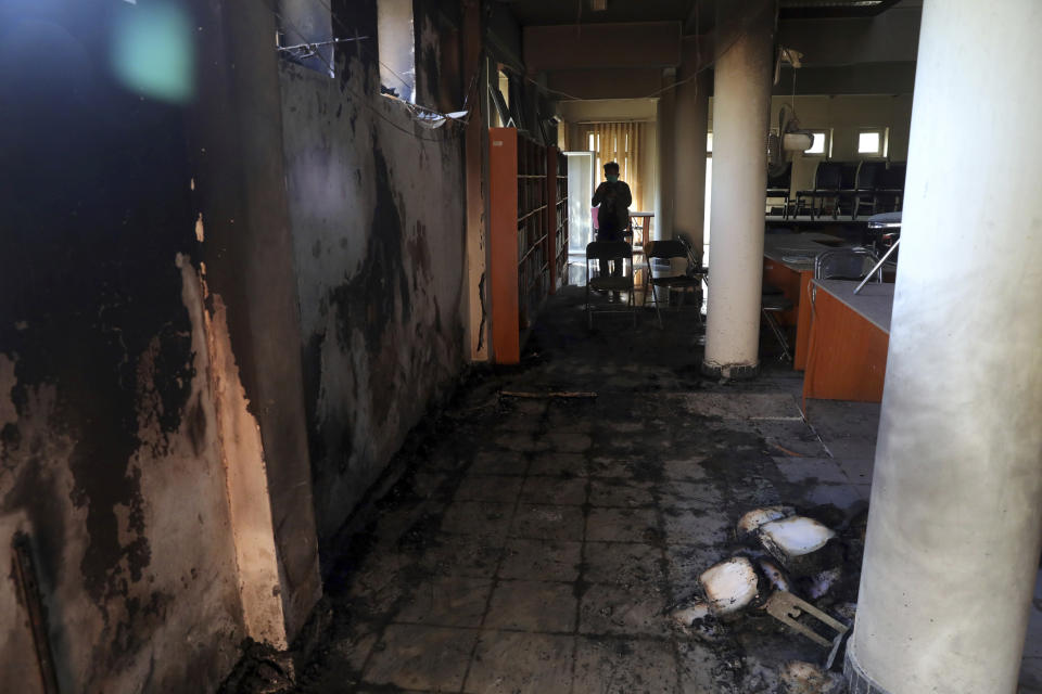
[[[1040,35],[1038,0],[924,7],[852,691],[1017,686],[1042,539]]]

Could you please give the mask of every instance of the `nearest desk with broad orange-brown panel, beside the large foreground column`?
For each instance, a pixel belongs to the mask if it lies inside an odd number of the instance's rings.
[[[882,400],[893,284],[813,280],[803,399]]]

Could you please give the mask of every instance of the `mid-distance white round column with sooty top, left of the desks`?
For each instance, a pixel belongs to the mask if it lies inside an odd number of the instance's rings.
[[[715,67],[713,241],[702,372],[732,378],[752,376],[759,367],[775,18],[773,3],[770,8],[750,16]]]

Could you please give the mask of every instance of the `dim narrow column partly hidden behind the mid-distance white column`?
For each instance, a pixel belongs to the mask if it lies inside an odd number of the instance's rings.
[[[685,66],[687,67],[687,66]],[[694,69],[695,66],[691,66]],[[701,252],[706,226],[706,134],[709,131],[710,72],[694,77],[686,70],[676,88],[673,230]],[[687,80],[687,81],[685,81]]]

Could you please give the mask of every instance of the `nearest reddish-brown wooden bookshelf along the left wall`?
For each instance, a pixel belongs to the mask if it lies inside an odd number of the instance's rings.
[[[556,147],[516,128],[492,128],[490,144],[493,360],[518,363],[523,336],[567,277],[568,169]]]

